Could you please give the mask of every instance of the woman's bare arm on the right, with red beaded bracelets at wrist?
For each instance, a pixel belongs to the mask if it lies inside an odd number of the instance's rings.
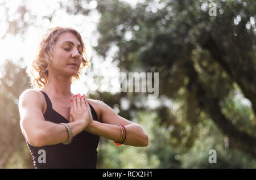
[[[101,122],[93,121],[85,128],[86,131],[92,134],[104,136],[114,142],[118,142],[121,136],[121,130],[117,125],[122,124],[127,130],[126,140],[123,144],[139,147],[145,147],[148,145],[148,136],[145,134],[141,126],[122,118],[104,102],[98,101],[98,105],[101,110]]]

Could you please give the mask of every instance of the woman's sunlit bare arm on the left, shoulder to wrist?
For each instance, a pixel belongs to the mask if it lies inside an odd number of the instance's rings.
[[[63,125],[45,121],[42,113],[43,102],[37,91],[28,89],[19,97],[20,127],[28,143],[36,147],[63,143],[68,139],[67,128]],[[67,123],[73,136],[84,129],[84,122]]]

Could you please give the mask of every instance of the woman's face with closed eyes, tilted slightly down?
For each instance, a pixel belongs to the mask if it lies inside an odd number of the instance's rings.
[[[49,71],[68,78],[75,76],[82,62],[81,53],[82,45],[76,35],[71,32],[61,33],[53,46],[53,62],[50,62]]]

